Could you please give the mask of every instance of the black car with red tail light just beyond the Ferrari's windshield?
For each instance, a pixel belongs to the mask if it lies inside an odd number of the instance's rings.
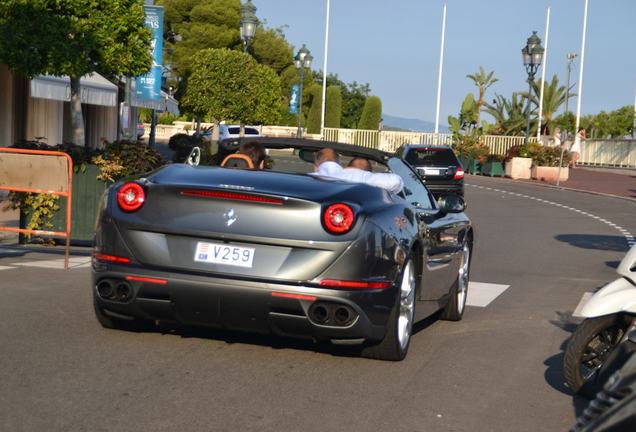
[[[400,147],[396,156],[416,169],[435,197],[448,192],[464,196],[464,168],[450,147],[409,144]]]

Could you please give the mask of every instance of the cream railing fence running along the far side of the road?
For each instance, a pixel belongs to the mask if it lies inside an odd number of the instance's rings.
[[[150,125],[146,133],[150,132]],[[210,127],[212,123],[202,123],[202,127]],[[192,122],[174,122],[173,125],[157,125],[158,138],[170,138],[177,133],[192,133],[195,125]],[[270,137],[293,138],[296,127],[293,126],[259,126],[261,134]],[[320,135],[305,134],[305,138],[320,140]],[[386,152],[394,152],[404,144],[439,144],[452,145],[453,136],[449,133],[435,134],[431,132],[397,132],[359,129],[325,128],[324,140],[355,144],[368,148],[377,148]],[[505,155],[510,147],[525,142],[522,136],[484,135],[480,141],[490,148],[491,154]],[[536,142],[536,138],[530,138]],[[613,166],[636,168],[636,140],[586,140],[581,145],[579,163],[594,166]]]

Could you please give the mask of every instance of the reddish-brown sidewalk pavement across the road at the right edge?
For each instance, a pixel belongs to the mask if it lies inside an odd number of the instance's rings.
[[[569,178],[560,187],[605,195],[614,195],[636,201],[636,169],[613,169],[579,166],[570,168]],[[556,186],[553,183],[527,180],[531,183]]]

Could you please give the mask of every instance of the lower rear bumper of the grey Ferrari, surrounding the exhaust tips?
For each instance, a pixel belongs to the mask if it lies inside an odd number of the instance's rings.
[[[126,280],[127,276],[158,278],[166,283]],[[114,285],[126,283],[131,288],[130,298],[115,301],[101,297],[97,285],[105,280]],[[92,290],[97,306],[114,317],[339,343],[381,340],[397,296],[396,287],[335,290],[117,265],[94,268]],[[323,324],[315,322],[311,312],[318,306],[324,306],[329,315]],[[350,321],[336,321],[340,308],[351,313]]]

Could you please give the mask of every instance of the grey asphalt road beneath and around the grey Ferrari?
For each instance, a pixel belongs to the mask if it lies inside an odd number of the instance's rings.
[[[561,371],[571,314],[616,277],[636,203],[467,183],[471,280],[510,288],[459,323],[421,323],[400,363],[264,336],[104,330],[88,268],[0,248],[0,430],[567,430],[582,406]]]

